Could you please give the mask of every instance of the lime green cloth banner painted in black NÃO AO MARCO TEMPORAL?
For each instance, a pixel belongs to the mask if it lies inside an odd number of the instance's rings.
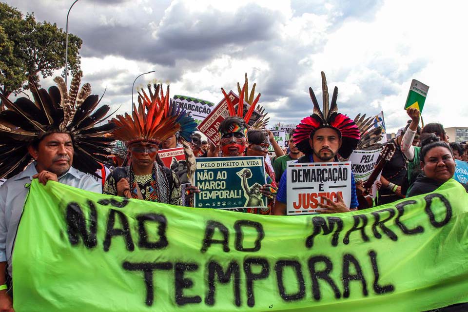
[[[34,179],[16,312],[426,311],[468,302],[468,195],[346,214],[175,207]]]

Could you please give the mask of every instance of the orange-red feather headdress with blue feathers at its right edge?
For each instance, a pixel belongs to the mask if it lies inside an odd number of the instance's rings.
[[[138,141],[151,141],[160,144],[176,134],[190,142],[195,132],[196,122],[185,110],[178,109],[169,98],[169,86],[166,94],[159,84],[154,85],[155,92],[148,85],[149,96],[141,89],[138,92],[138,107],[133,104],[132,116],[125,113],[112,119],[117,125],[114,137],[129,144]]]

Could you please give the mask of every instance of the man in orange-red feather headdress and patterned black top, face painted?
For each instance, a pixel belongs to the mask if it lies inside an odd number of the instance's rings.
[[[151,98],[138,97],[133,118],[125,114],[112,119],[118,127],[113,135],[125,142],[131,163],[114,169],[104,185],[104,193],[181,205],[179,178],[164,166],[157,152],[160,144],[176,132],[190,140],[196,123],[185,111],[177,111],[175,103],[169,103],[169,87],[165,97],[162,92],[159,96],[159,85],[155,89],[155,94],[150,92]]]

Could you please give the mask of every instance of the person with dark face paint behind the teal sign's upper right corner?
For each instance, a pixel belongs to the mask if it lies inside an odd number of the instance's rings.
[[[268,131],[250,129],[247,132],[247,135],[249,139],[249,145],[245,154],[247,156],[263,156],[264,158],[269,157],[268,148],[270,147],[270,136]],[[273,189],[277,189],[273,168],[267,161],[265,161],[265,173],[267,174],[267,183],[270,184]],[[259,187],[261,187],[261,185]],[[268,209],[261,209],[260,214],[271,215],[274,202],[274,198],[269,200]]]

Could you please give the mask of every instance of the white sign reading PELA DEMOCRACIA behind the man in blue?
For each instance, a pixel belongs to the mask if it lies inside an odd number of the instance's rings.
[[[369,179],[379,155],[380,150],[352,151],[349,161],[351,161],[351,171],[354,175],[354,181],[363,180],[366,182]],[[377,181],[380,181],[380,174],[372,184],[372,198],[375,198],[377,195],[377,186],[375,185]]]

